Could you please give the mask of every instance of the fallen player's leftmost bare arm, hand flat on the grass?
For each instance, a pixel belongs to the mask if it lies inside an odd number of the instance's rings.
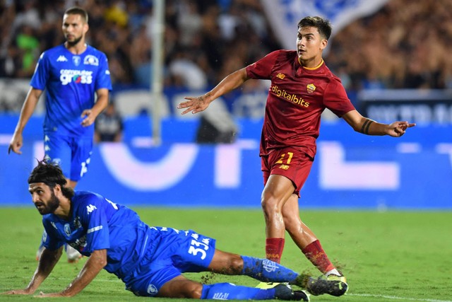
[[[6,295],[30,295],[35,293],[36,289],[42,284],[47,276],[49,276],[52,269],[54,269],[57,264],[61,254],[63,253],[63,247],[58,250],[47,250],[44,248],[40,256],[40,262],[37,265],[37,269],[30,283],[25,289],[14,289],[12,291],[6,291],[2,294]]]

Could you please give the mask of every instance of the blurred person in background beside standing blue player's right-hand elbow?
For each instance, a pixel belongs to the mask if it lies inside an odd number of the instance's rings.
[[[94,139],[100,141],[122,141],[124,124],[121,115],[110,101],[107,108],[95,120]]]

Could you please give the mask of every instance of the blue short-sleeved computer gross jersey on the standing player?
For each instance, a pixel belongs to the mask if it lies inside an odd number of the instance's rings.
[[[97,89],[112,90],[107,56],[89,45],[82,54],[53,47],[41,54],[30,85],[46,91],[44,132],[93,136],[94,125],[83,127],[81,114],[93,108]]]

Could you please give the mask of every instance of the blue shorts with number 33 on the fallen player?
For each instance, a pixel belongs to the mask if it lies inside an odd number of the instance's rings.
[[[163,284],[184,272],[206,272],[213,259],[213,238],[162,227],[151,227],[149,233],[148,251],[135,271],[123,279],[126,289],[136,296],[156,296]]]

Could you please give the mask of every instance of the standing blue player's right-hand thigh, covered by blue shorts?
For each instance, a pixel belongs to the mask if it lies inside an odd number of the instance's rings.
[[[80,180],[88,172],[88,166],[93,152],[93,138],[74,138],[71,142],[71,180]]]

